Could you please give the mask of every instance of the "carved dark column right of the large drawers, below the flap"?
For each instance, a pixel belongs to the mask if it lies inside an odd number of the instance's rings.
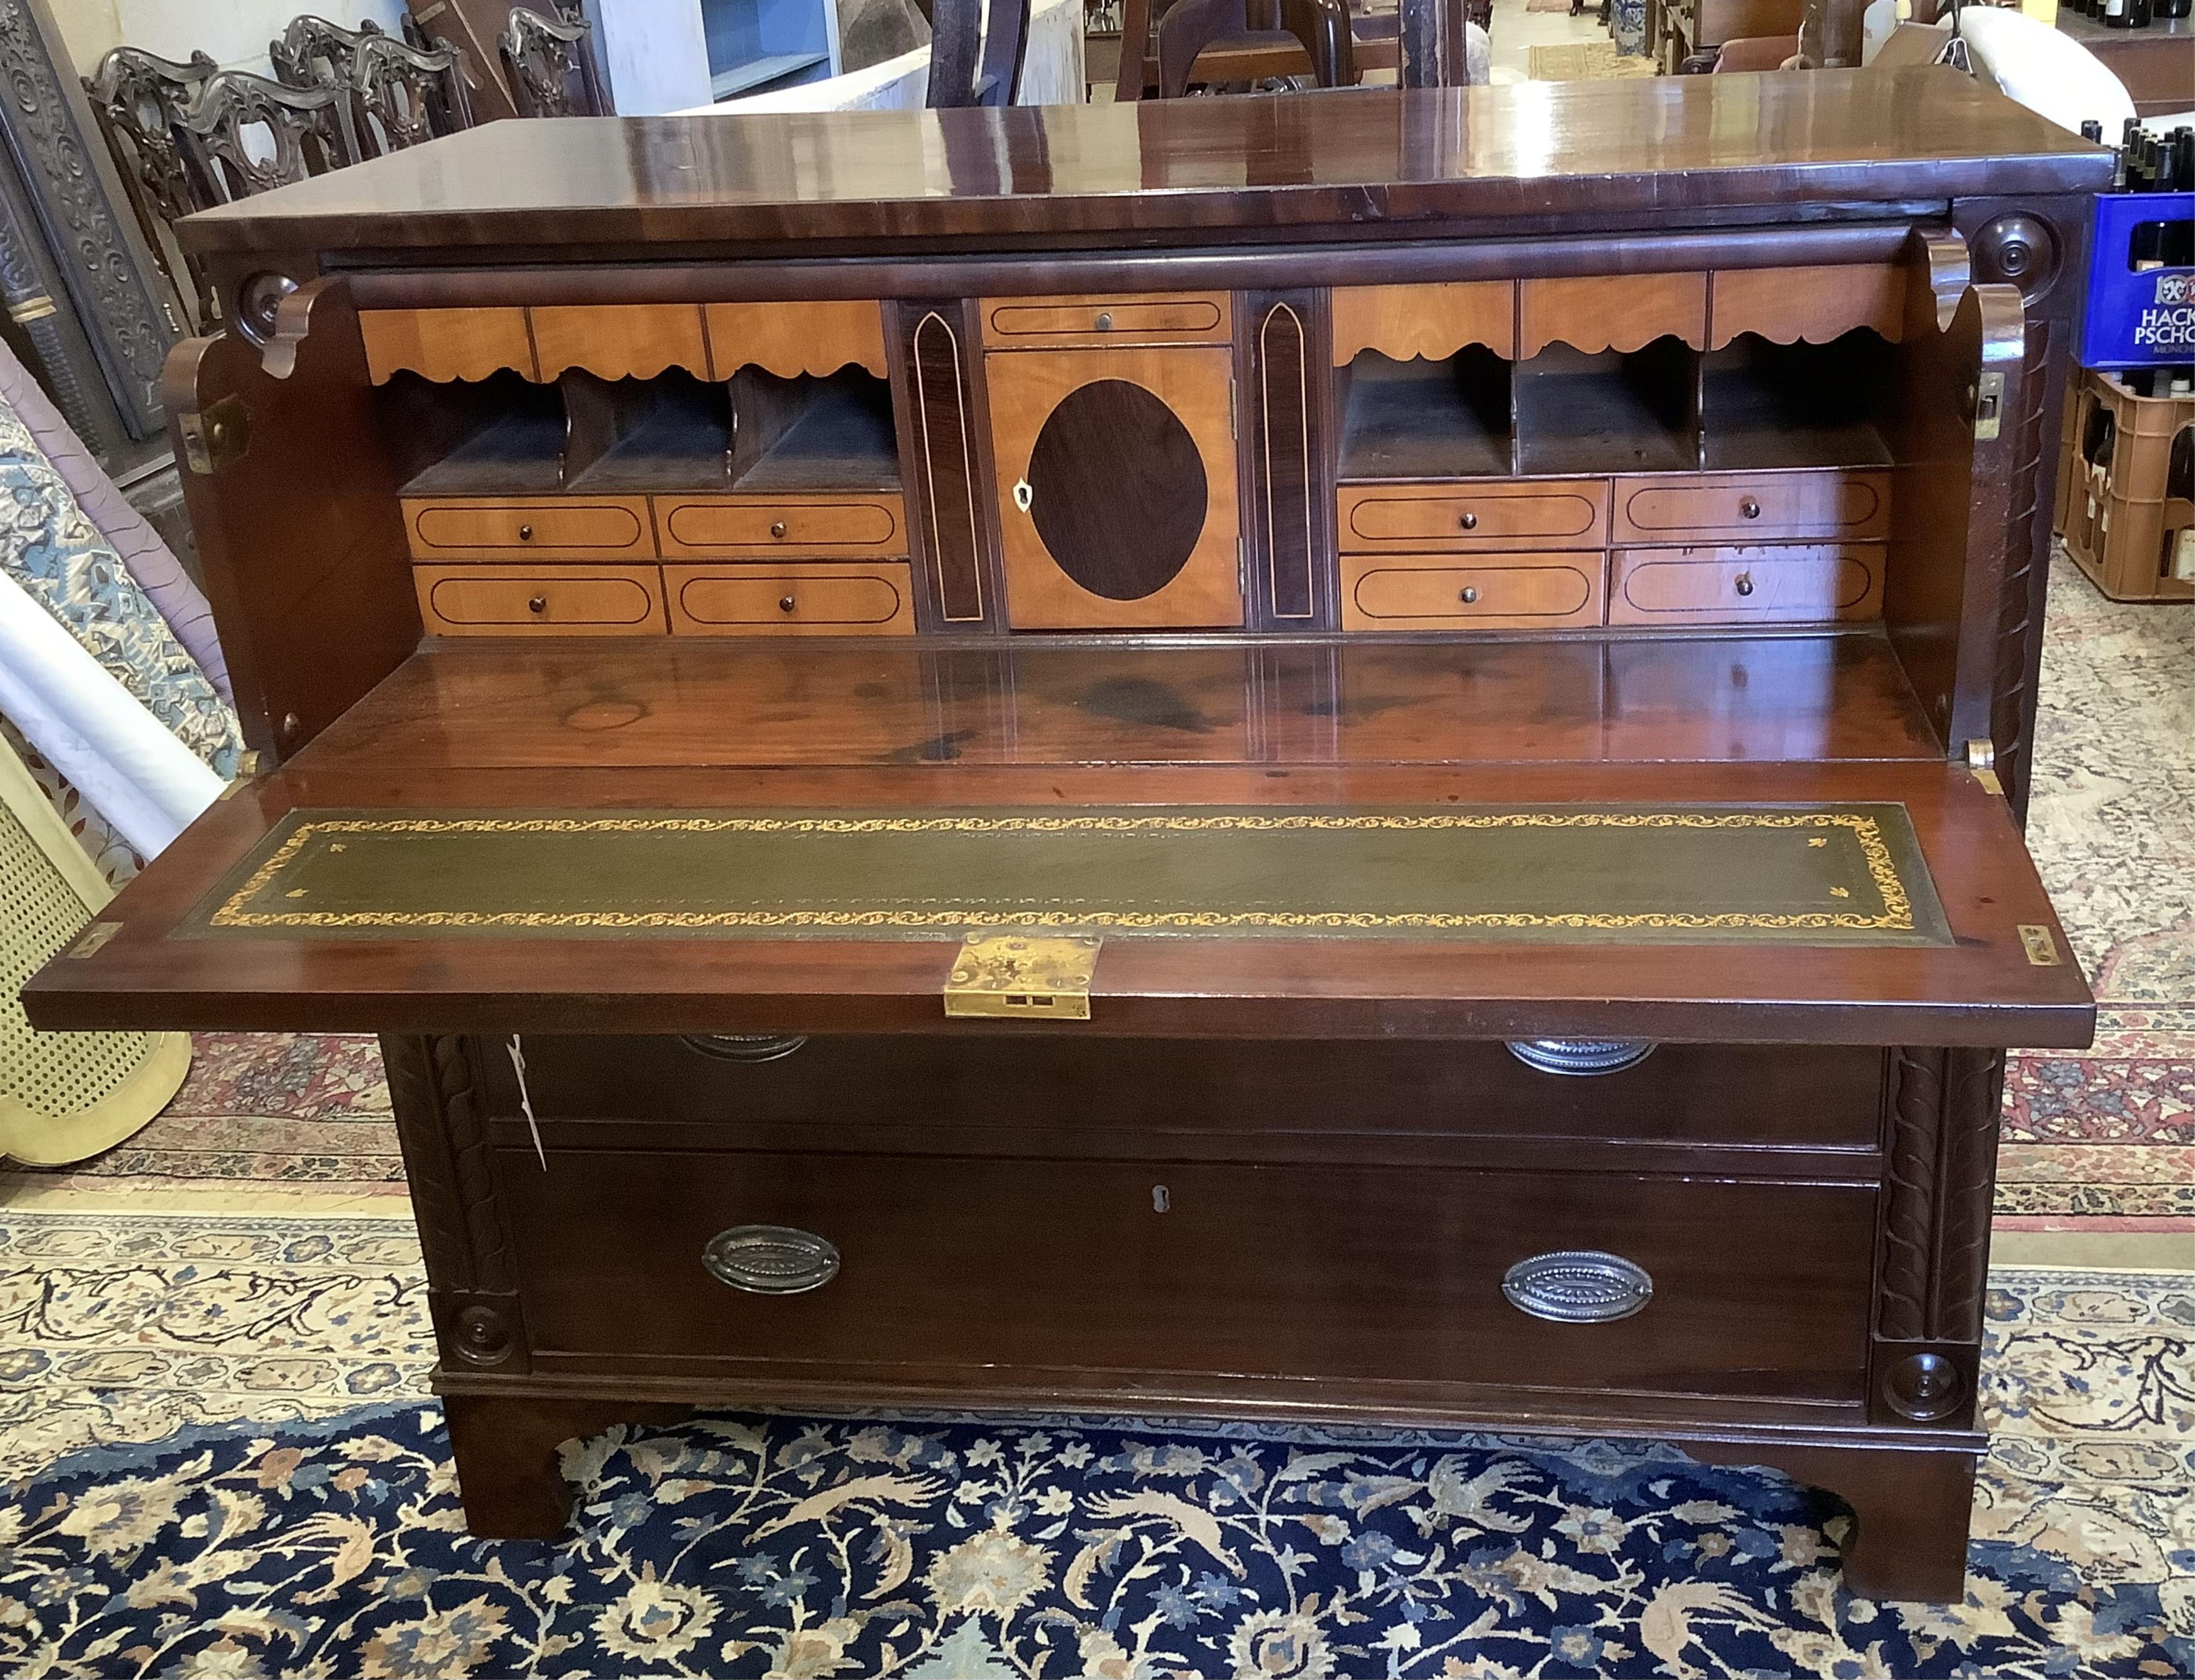
[[[1967,1427],[1973,1419],[2002,1096],[2000,1050],[1890,1052],[1868,1362],[1875,1423]]]

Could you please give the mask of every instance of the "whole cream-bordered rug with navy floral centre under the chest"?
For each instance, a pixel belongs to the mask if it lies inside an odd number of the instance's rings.
[[[569,1445],[573,1531],[474,1542],[402,1221],[18,1212],[0,1278],[7,1673],[2195,1671],[2195,1289],[2155,1274],[1995,1276],[1947,1610],[1844,1594],[1848,1515],[1769,1471],[1429,1432],[716,1416]]]

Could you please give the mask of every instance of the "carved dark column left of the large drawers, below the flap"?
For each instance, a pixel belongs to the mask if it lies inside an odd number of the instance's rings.
[[[476,1041],[454,1034],[382,1037],[441,1362],[516,1373],[531,1362],[496,1201],[479,1054]]]

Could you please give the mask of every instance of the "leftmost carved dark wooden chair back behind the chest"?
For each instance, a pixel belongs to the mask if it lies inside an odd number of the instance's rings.
[[[184,121],[198,90],[215,75],[219,66],[204,53],[176,64],[136,46],[116,46],[83,79],[92,119],[130,195],[130,211],[154,261],[198,325],[215,318],[213,292],[204,270],[178,244],[173,224],[213,202],[211,182],[195,180],[198,163],[184,141]]]

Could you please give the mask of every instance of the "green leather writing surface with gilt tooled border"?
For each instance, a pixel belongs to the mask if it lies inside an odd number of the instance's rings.
[[[296,810],[206,936],[1949,944],[1903,806]]]

